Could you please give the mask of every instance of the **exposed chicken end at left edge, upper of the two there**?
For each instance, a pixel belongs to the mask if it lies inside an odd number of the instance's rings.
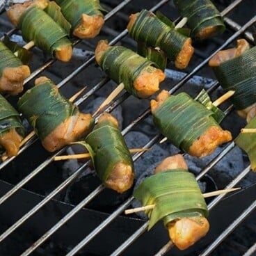
[[[0,77],[0,92],[18,95],[23,90],[24,79],[29,75],[30,69],[27,65],[6,67]]]

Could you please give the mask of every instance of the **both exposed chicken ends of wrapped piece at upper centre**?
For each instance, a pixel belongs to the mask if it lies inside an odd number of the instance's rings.
[[[107,40],[100,40],[95,49],[96,62],[99,64],[104,51],[111,47]],[[134,88],[138,97],[147,98],[159,90],[159,83],[166,78],[162,70],[156,67],[146,67],[134,81]]]

